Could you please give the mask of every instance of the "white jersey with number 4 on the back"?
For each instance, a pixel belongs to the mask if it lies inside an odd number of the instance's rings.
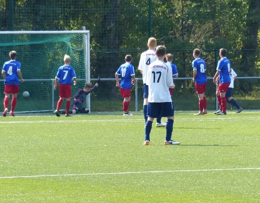
[[[152,62],[156,61],[156,59],[157,59],[157,57],[155,55],[155,50],[148,49],[147,51],[145,51],[141,54],[138,70],[142,71],[143,84],[146,84],[148,66]]]

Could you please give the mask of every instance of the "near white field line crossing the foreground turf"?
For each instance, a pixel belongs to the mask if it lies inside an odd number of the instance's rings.
[[[0,179],[14,178],[40,178],[40,177],[66,177],[66,176],[99,176],[99,175],[125,175],[125,174],[158,174],[158,173],[181,173],[181,172],[212,172],[212,171],[242,171],[242,170],[260,170],[260,167],[254,168],[216,168],[201,170],[175,170],[175,171],[147,171],[147,172],[118,172],[118,173],[90,173],[90,174],[57,174],[57,175],[37,175],[37,176],[7,176]]]

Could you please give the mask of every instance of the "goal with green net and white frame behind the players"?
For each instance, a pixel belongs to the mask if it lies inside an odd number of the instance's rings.
[[[78,84],[72,85],[72,95],[90,80],[89,31],[2,31],[0,32],[0,62],[10,60],[9,52],[17,52],[24,82],[20,82],[16,112],[54,111],[59,99],[58,87],[54,91],[54,79],[63,57],[71,57]],[[1,68],[2,71],[2,68]],[[4,80],[0,80],[0,99],[4,100]],[[28,91],[30,96],[23,97]],[[72,99],[72,98],[71,98]],[[89,98],[87,99],[88,105]],[[1,102],[2,104],[2,102]],[[3,107],[2,107],[3,108]],[[9,107],[10,109],[10,107]],[[65,109],[65,102],[61,109]]]

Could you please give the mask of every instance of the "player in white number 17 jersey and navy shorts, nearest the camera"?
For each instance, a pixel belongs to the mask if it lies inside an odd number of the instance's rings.
[[[174,88],[172,80],[172,68],[163,62],[166,48],[156,48],[157,60],[148,66],[146,84],[149,86],[147,121],[145,123],[145,141],[143,145],[150,144],[150,132],[154,118],[167,117],[165,145],[179,145],[179,142],[171,140],[174,120],[174,106],[171,100],[169,88]]]

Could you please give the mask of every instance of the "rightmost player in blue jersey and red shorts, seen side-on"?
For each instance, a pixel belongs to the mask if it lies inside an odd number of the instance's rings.
[[[219,110],[215,112],[216,115],[227,115],[227,98],[226,98],[226,92],[229,89],[229,85],[231,83],[230,79],[230,61],[226,57],[227,50],[226,49],[220,49],[219,50],[219,56],[220,60],[217,63],[217,72],[213,78],[213,82],[217,83],[217,77],[219,76],[219,85],[217,87],[216,96],[219,104]]]

